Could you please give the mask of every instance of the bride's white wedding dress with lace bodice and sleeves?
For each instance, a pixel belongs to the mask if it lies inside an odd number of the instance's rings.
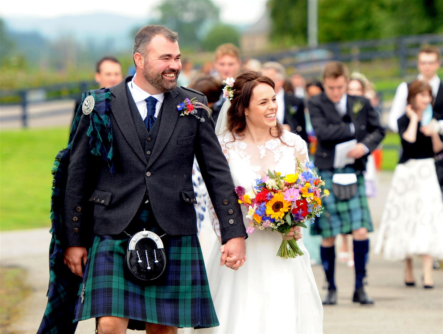
[[[282,140],[288,145],[272,139],[263,146],[247,146],[241,138],[233,141],[229,133],[220,138],[235,186],[248,192],[268,169],[291,174],[295,173],[295,157],[302,163],[308,160],[302,138],[285,131]],[[245,216],[246,207],[242,211]],[[210,218],[220,235],[213,209]],[[247,227],[248,219],[244,223]],[[303,238],[297,244],[304,255],[295,259],[276,256],[281,241],[277,232],[255,230],[246,239],[247,261],[237,271],[220,266],[220,243],[214,244],[205,261],[220,326],[194,333],[323,332],[323,306]]]

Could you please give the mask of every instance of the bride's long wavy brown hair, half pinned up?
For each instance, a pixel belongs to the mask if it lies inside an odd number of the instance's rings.
[[[261,72],[247,71],[241,73],[237,79],[235,79],[232,87],[234,90],[234,96],[231,101],[231,106],[227,111],[228,120],[226,127],[230,133],[244,135],[246,128],[245,109],[249,107],[249,103],[251,102],[251,98],[253,96],[253,89],[261,83],[268,84],[272,87],[272,89],[275,89],[274,81],[268,77],[265,77]],[[276,136],[272,134],[272,129],[273,128],[269,129],[269,133],[272,135],[272,137],[280,138],[281,140],[283,127],[281,126],[280,122],[277,121],[277,125],[275,127],[277,133]]]

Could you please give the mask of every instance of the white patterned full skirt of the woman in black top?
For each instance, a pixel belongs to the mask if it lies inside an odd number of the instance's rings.
[[[381,215],[374,252],[388,260],[427,254],[443,258],[443,201],[435,161],[398,164]]]

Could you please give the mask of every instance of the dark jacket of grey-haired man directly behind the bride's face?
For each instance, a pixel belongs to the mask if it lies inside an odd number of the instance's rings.
[[[291,131],[308,142],[303,100],[287,92],[284,92],[284,123],[291,127]]]

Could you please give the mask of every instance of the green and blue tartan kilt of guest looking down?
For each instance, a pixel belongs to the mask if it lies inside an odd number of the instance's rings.
[[[350,200],[338,200],[332,192],[333,173],[319,169],[319,176],[325,181],[324,188],[329,190],[330,195],[326,200],[323,200],[323,213],[315,219],[315,223],[311,226],[311,234],[330,238],[337,234],[350,234],[353,230],[361,227],[372,232],[372,219],[369,213],[363,174],[350,167],[334,172],[356,173],[358,191]]]

